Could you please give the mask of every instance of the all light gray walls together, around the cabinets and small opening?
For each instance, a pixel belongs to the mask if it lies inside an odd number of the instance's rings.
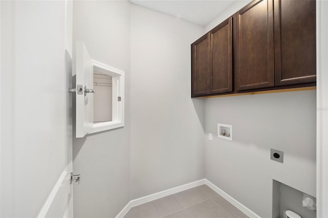
[[[273,179],[315,195],[315,91],[190,98],[190,44],[245,4],[203,28],[128,2],[74,2],[73,39],[126,72],[126,126],[73,141],[76,217],[112,217],[203,178],[262,217],[272,216]],[[215,137],[219,122],[233,125],[232,142]]]

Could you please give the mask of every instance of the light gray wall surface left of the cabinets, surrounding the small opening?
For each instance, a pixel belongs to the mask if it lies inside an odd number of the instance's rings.
[[[204,178],[204,105],[190,98],[190,44],[202,34],[126,1],[74,2],[73,41],[126,73],[125,127],[73,140],[75,217],[113,217],[132,199]]]

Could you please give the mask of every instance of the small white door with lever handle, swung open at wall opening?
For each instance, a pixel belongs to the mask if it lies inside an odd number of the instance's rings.
[[[73,71],[76,74],[76,138],[83,138],[93,127],[93,64],[82,41],[76,42]]]

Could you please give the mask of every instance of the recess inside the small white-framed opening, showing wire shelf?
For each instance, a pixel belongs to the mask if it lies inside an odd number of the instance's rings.
[[[113,77],[93,70],[93,123],[112,121]]]

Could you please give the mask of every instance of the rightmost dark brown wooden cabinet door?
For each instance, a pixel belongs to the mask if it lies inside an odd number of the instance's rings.
[[[275,1],[275,85],[316,81],[316,1]]]

